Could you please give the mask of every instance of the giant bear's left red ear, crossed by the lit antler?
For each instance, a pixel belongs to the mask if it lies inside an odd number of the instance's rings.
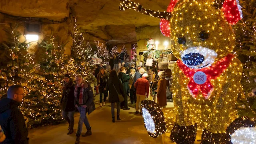
[[[171,0],[169,6],[167,7],[167,12],[172,12],[174,6],[179,0]],[[161,19],[160,20],[160,30],[164,36],[170,37],[170,20]]]

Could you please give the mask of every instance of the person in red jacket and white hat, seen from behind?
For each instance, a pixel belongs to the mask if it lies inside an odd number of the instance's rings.
[[[139,114],[139,104],[142,100],[145,100],[145,98],[148,98],[148,92],[149,92],[149,82],[147,80],[148,74],[143,74],[142,78],[139,78],[135,84],[134,87],[136,89],[136,112],[135,114]],[[142,114],[142,108],[140,107],[140,114]]]

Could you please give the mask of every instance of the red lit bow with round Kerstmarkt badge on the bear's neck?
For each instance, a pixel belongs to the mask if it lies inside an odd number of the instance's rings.
[[[187,86],[190,94],[196,98],[199,91],[201,91],[204,98],[208,99],[214,90],[210,80],[214,80],[220,76],[220,74],[226,70],[233,58],[234,55],[228,54],[226,57],[220,59],[215,65],[201,69],[189,68],[181,60],[178,60],[177,64],[185,76],[190,78]]]

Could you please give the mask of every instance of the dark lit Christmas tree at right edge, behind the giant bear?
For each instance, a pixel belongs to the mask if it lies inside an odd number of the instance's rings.
[[[242,0],[243,19],[234,26],[236,31],[236,54],[243,63],[243,86],[246,99],[240,99],[240,116],[256,117],[256,1]]]

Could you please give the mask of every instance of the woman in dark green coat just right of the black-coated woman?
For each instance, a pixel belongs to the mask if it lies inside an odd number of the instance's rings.
[[[121,102],[121,108],[123,110],[130,110],[130,108],[128,108],[128,98],[127,98],[130,93],[130,86],[129,86],[130,76],[126,74],[126,71],[127,70],[125,67],[121,67],[120,72],[118,74],[118,78],[122,81],[122,84],[124,86],[124,101]]]

